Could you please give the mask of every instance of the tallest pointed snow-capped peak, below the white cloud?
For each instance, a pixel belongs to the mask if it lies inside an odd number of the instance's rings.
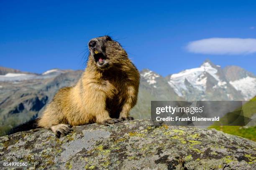
[[[186,100],[244,100],[226,79],[220,66],[209,60],[200,67],[167,76],[169,85]]]

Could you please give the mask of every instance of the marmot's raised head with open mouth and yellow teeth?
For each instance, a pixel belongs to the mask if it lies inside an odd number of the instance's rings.
[[[89,60],[99,69],[118,66],[128,58],[121,45],[109,36],[93,38],[88,42],[88,47],[90,50]]]

